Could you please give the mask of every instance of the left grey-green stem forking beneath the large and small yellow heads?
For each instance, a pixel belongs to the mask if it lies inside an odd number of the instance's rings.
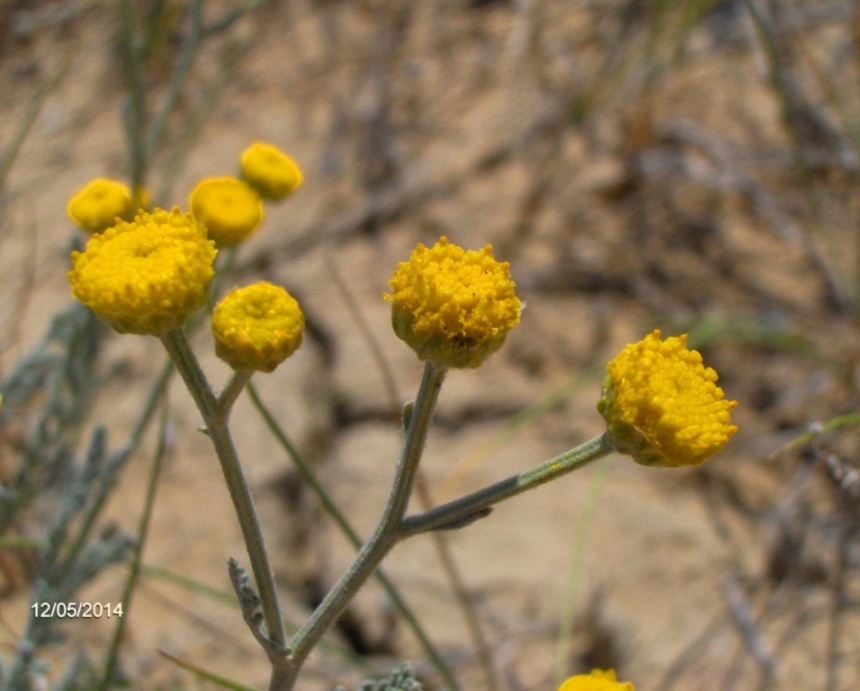
[[[225,389],[225,394],[218,399],[215,397],[212,388],[209,386],[209,382],[206,380],[206,376],[200,369],[200,364],[191,352],[191,348],[182,330],[173,329],[167,332],[161,337],[161,342],[167,349],[168,354],[176,365],[176,370],[194,398],[194,402],[197,404],[197,408],[200,410],[203,422],[206,425],[206,433],[215,447],[215,453],[221,464],[221,471],[224,473],[227,489],[230,491],[230,498],[233,500],[233,506],[236,509],[239,526],[242,529],[242,537],[245,540],[245,547],[251,560],[251,570],[254,573],[254,580],[256,581],[260,596],[263,618],[266,622],[266,631],[273,646],[266,653],[273,666],[277,667],[276,663],[284,664],[283,656],[286,651],[284,622],[278,606],[275,581],[272,576],[272,569],[269,566],[269,556],[263,541],[263,533],[260,528],[260,521],[257,518],[257,510],[254,507],[254,500],[251,497],[248,481],[245,479],[245,473],[239,463],[236,447],[233,445],[233,439],[227,427],[228,410],[224,409],[225,401],[235,401],[235,396],[238,395],[236,389],[237,387],[241,389],[240,384],[244,385],[247,382],[247,377],[237,374],[231,380],[231,384]],[[241,381],[242,379],[244,381]],[[229,406],[229,403],[226,405]],[[275,669],[273,674],[276,673],[278,673],[277,669]]]

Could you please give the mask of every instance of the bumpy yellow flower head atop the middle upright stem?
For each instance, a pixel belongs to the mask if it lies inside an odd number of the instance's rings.
[[[391,321],[421,360],[439,367],[477,367],[502,347],[520,322],[522,303],[510,264],[493,248],[466,251],[441,238],[419,244],[390,281]]]

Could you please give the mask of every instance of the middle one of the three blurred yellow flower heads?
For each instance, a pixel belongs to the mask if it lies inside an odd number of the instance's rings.
[[[236,178],[206,178],[188,200],[194,218],[206,226],[219,247],[250,237],[263,222],[263,200],[257,191]]]

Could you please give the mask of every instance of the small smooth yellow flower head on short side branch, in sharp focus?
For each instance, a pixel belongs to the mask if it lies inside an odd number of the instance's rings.
[[[215,352],[236,370],[271,372],[302,344],[305,315],[281,286],[236,288],[212,312]]]

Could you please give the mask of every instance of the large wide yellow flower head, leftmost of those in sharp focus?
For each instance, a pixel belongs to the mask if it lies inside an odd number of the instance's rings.
[[[139,212],[72,252],[72,294],[120,333],[160,335],[206,304],[216,249],[178,208]]]

